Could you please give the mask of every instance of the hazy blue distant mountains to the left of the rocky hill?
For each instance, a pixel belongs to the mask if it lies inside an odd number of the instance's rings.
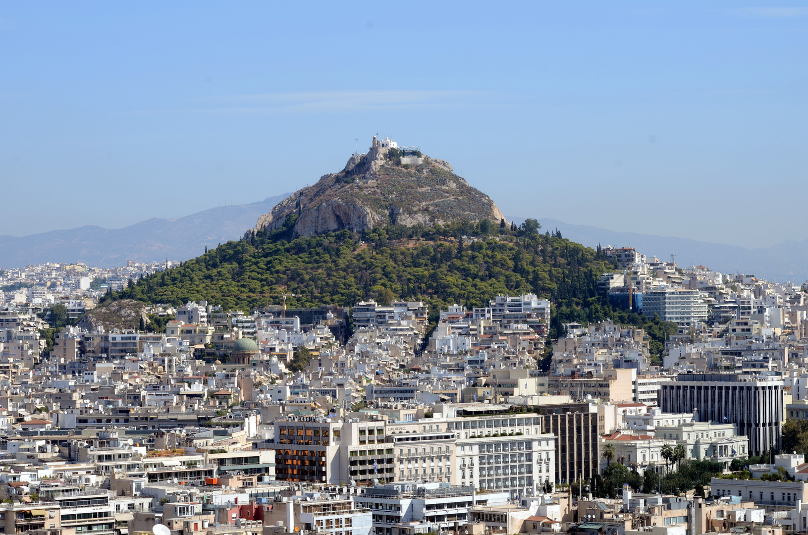
[[[205,246],[241,238],[289,194],[267,197],[252,204],[220,206],[176,219],[153,217],[124,227],[103,229],[86,225],[52,230],[23,238],[0,236],[0,268],[23,268],[45,262],[84,262],[100,268],[166,258],[187,260],[204,253]]]

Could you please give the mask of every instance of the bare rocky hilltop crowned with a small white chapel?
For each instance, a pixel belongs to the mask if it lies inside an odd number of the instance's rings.
[[[294,237],[389,224],[503,219],[494,201],[455,175],[447,162],[376,137],[367,154],[353,154],[339,173],[323,175],[280,201],[255,228],[275,229],[295,214]]]

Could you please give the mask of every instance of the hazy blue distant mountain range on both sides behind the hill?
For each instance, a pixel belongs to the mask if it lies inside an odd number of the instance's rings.
[[[241,238],[247,229],[281,200],[267,197],[252,204],[234,204],[204,210],[176,219],[152,218],[123,229],[86,225],[53,230],[23,238],[0,236],[0,268],[20,268],[45,262],[84,262],[112,268],[127,260],[158,262],[187,260],[204,252],[205,246]],[[508,217],[520,224],[524,217]],[[539,219],[542,230],[560,230],[564,238],[585,246],[633,246],[643,255],[667,260],[676,254],[680,266],[701,264],[720,272],[743,272],[768,280],[802,283],[808,280],[808,240],[790,240],[771,247],[748,249],[721,243],[700,242],[633,232],[615,232],[589,225],[571,225],[557,219]]]

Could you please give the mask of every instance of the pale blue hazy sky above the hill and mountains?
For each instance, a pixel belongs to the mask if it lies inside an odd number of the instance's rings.
[[[253,202],[378,132],[506,214],[808,238],[799,5],[2,2],[0,234]]]

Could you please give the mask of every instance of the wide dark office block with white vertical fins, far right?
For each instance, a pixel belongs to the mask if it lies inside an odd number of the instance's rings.
[[[663,412],[692,412],[700,422],[734,423],[749,454],[781,447],[783,381],[739,373],[681,373],[659,391]]]

